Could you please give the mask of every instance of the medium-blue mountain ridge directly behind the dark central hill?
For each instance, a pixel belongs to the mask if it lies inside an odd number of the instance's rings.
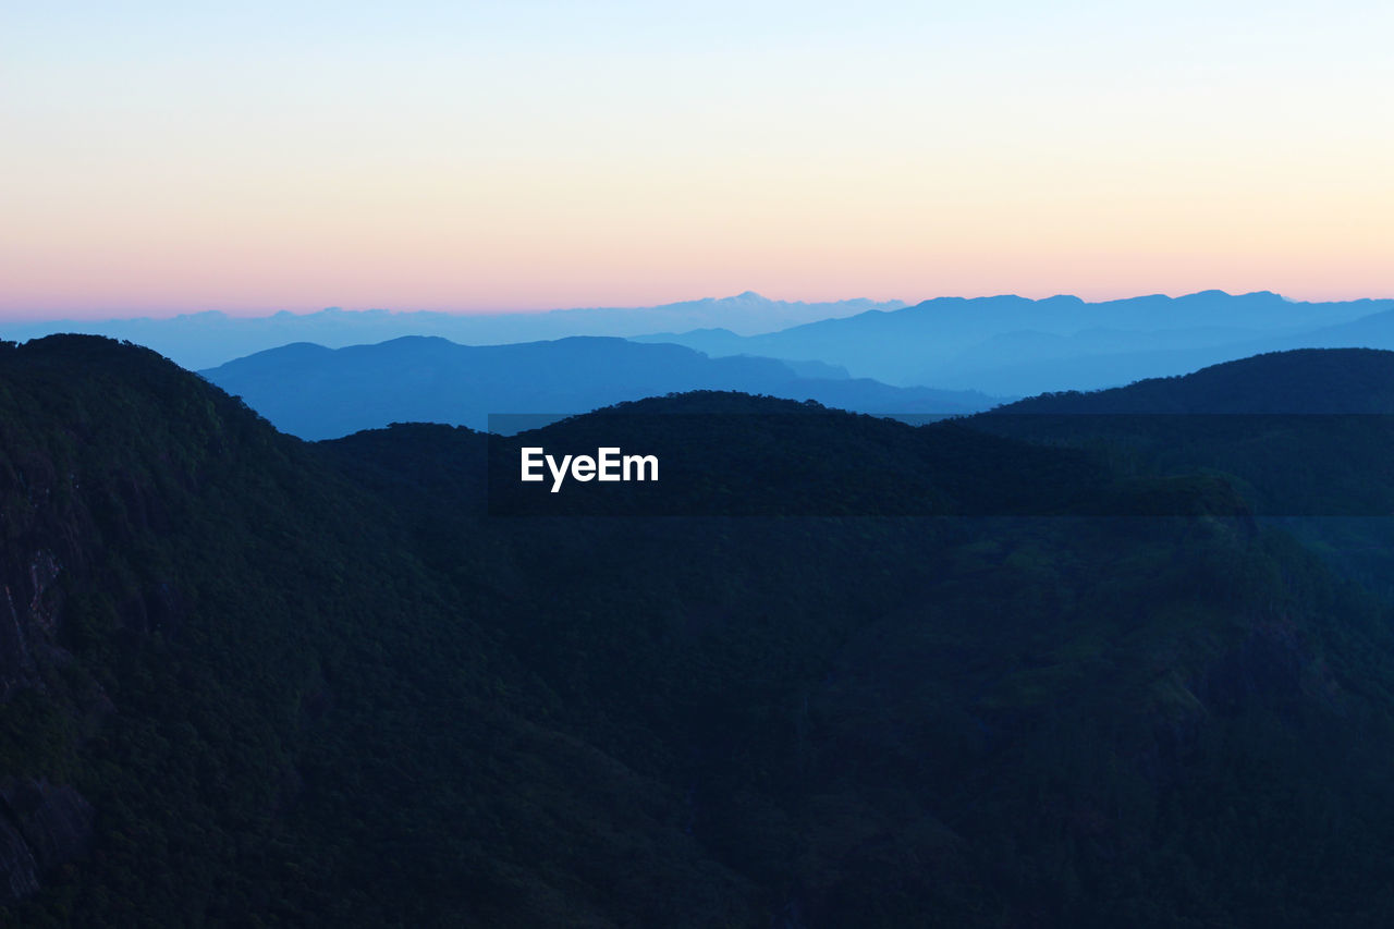
[[[277,428],[319,439],[389,423],[487,428],[491,413],[584,413],[693,389],[744,391],[870,413],[972,413],[994,405],[976,392],[892,388],[828,365],[707,356],[675,345],[572,338],[461,346],[403,338],[330,350],[290,345],[205,371]]]

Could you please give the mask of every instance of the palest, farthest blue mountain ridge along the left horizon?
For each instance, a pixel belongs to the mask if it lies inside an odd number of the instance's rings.
[[[401,336],[441,336],[467,345],[505,345],[579,335],[631,336],[658,329],[704,326],[725,326],[742,335],[754,335],[814,319],[903,305],[899,300],[768,300],[747,290],[735,297],[708,297],[659,307],[597,307],[548,312],[453,314],[329,308],[309,314],[283,311],[269,317],[229,317],[210,311],[167,319],[45,319],[0,322],[0,335],[24,340],[56,332],[82,332],[128,339],[197,371],[291,342],[312,342],[337,349]]]

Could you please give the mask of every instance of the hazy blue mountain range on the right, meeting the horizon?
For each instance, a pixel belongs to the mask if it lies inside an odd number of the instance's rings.
[[[821,360],[888,384],[1019,396],[1115,386],[1264,350],[1355,347],[1374,326],[1352,321],[1391,310],[1390,300],[1299,303],[1266,292],[1218,290],[1103,303],[941,297],[758,336],[703,329],[640,340],[687,345],[712,356]]]

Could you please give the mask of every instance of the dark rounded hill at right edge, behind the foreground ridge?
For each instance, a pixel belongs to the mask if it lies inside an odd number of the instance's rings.
[[[1012,403],[977,428],[1206,471],[1347,576],[1394,598],[1394,352],[1299,349],[1092,393]]]

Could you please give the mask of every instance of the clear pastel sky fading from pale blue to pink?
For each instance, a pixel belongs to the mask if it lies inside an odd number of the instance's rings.
[[[1390,35],[1345,0],[0,0],[0,318],[1391,297]]]

